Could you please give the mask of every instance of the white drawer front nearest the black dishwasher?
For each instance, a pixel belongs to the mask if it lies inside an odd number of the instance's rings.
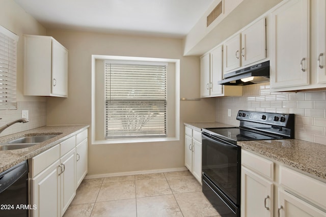
[[[56,145],[32,158],[32,177],[60,158],[60,146]]]

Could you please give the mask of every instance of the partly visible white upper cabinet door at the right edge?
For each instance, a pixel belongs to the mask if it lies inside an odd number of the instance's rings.
[[[325,0],[317,1],[317,82],[326,83],[326,4]]]

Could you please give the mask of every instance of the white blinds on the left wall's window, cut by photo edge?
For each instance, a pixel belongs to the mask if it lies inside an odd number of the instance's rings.
[[[0,109],[17,109],[16,65],[18,36],[0,26]]]

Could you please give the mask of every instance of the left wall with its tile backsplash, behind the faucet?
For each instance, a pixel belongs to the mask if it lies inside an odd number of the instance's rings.
[[[0,0],[0,25],[19,36],[17,44],[17,110],[0,110],[0,126],[21,117],[21,110],[29,110],[28,123],[16,123],[0,136],[44,126],[46,98],[23,96],[23,34],[45,35],[46,29],[26,14],[13,0]]]

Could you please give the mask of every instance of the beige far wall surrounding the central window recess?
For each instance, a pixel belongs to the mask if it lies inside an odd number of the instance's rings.
[[[180,59],[180,97],[199,97],[199,57],[184,57],[182,40],[47,30],[69,50],[68,98],[47,99],[47,124],[91,124],[91,55]],[[183,122],[209,121],[213,99],[180,102],[180,141],[92,145],[89,174],[169,170],[184,167]],[[91,133],[89,133],[89,136]]]

